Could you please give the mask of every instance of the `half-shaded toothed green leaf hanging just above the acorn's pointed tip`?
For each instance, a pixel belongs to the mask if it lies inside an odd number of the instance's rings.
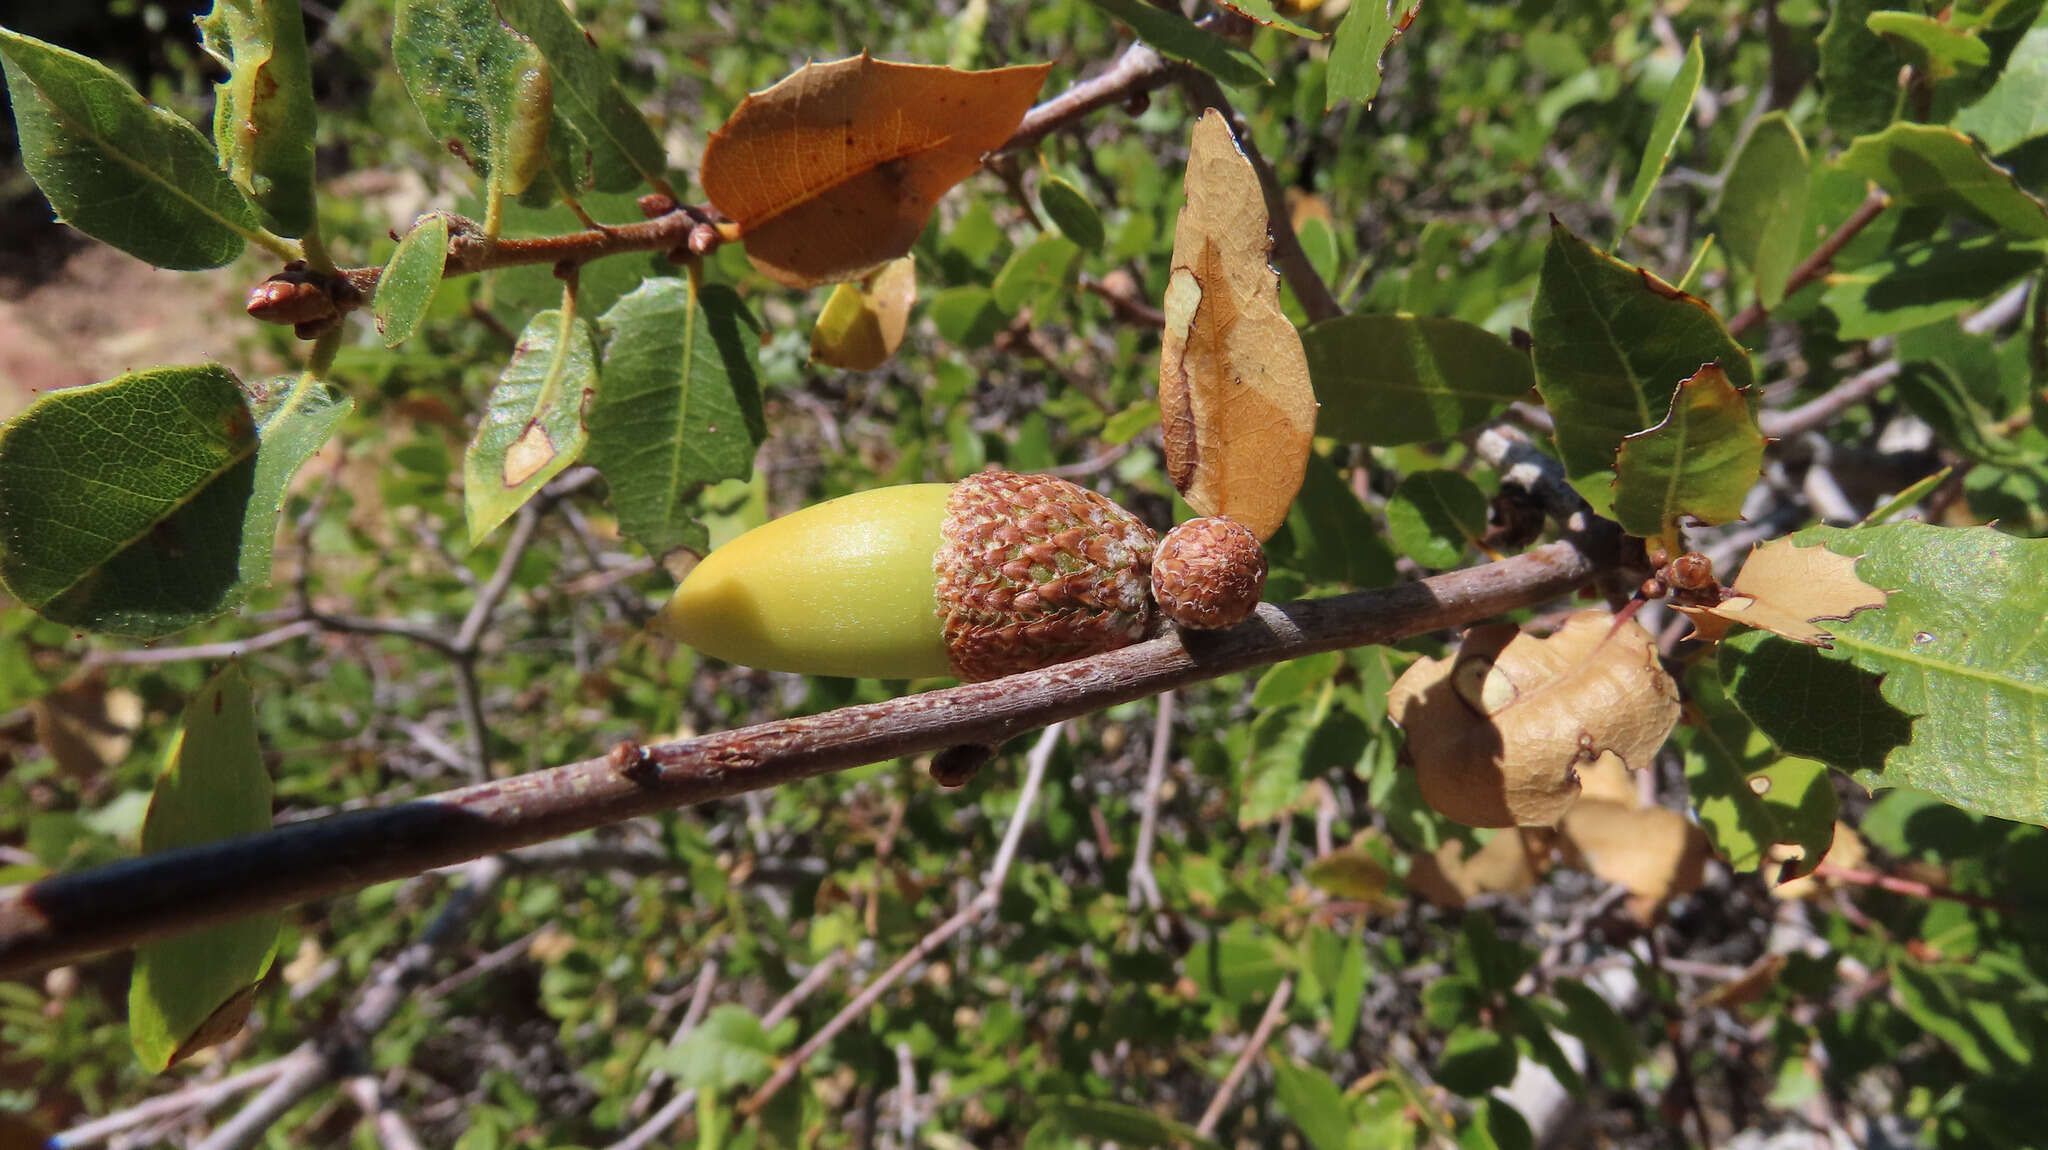
[[[598,319],[602,381],[586,460],[604,473],[618,526],[649,552],[705,546],[698,487],[754,475],[766,436],[754,319],[731,289],[649,278]]]

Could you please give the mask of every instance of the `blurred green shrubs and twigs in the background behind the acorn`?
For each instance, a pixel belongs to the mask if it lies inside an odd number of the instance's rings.
[[[207,119],[213,74],[190,10],[127,0],[16,8],[4,16],[10,27],[109,61],[152,100]],[[1339,10],[1303,18],[1331,27]],[[389,231],[416,213],[473,203],[471,178],[434,147],[389,65],[391,4],[309,0],[305,12],[324,115],[324,229],[340,262],[377,264],[391,252]],[[707,133],[748,90],[805,59],[1053,61],[1053,94],[1128,43],[1081,0],[586,0],[578,14],[678,172],[694,170]],[[1389,53],[1374,106],[1323,115],[1323,47],[1274,31],[1251,41],[1274,84],[1235,98],[1290,188],[1311,260],[1348,309],[1456,315],[1509,336],[1528,325],[1552,215],[1583,235],[1612,235],[1614,205],[1694,35],[1706,53],[1702,102],[1624,258],[1681,278],[1718,174],[1761,108],[1788,106],[1817,156],[1845,143],[1810,84],[1827,18],[1819,0],[1430,0]],[[2009,12],[1999,23],[2009,31],[1987,39],[2009,51],[2030,18]],[[950,194],[915,252],[924,299],[911,336],[874,372],[815,368],[809,323],[825,293],[774,289],[737,246],[719,250],[709,274],[739,284],[766,321],[770,438],[754,481],[707,497],[715,542],[821,497],[989,462],[1090,477],[1155,526],[1186,516],[1155,446],[1155,331],[1120,321],[1069,276],[997,282],[997,272],[1051,233],[1032,188],[1059,174],[1106,223],[1102,248],[1079,256],[1079,282],[1128,282],[1157,301],[1190,123],[1188,100],[1167,88]],[[2021,178],[2040,184],[2025,166]],[[1862,180],[1841,192],[1817,194],[1833,207],[1815,209],[1808,246],[1862,198]],[[0,196],[4,321],[45,340],[51,372],[94,364],[104,377],[156,362],[150,340],[195,329],[205,354],[246,377],[297,354],[287,331],[238,313],[240,291],[270,270],[254,256],[176,280],[188,303],[166,315],[172,280],[139,264],[76,264],[86,256],[47,223],[18,166],[0,172]],[[623,196],[590,207],[600,219],[637,217]],[[514,233],[571,227],[559,209],[510,221]],[[1858,244],[1868,258],[1890,241],[1872,233]],[[670,270],[645,256],[594,264],[584,313]],[[61,293],[68,282],[92,289],[92,315]],[[1698,291],[1724,315],[1745,303],[1718,256]],[[354,325],[334,381],[358,409],[301,477],[274,587],[180,643],[246,638],[266,612],[283,618],[299,587],[336,616],[459,620],[506,532],[463,550],[457,460],[512,334],[555,295],[547,268],[451,280],[424,336],[399,352]],[[1815,313],[1812,295],[1794,297],[1780,323],[1751,338],[1759,381],[1806,395],[1855,366]],[[137,327],[137,315],[150,321]],[[66,379],[12,370],[4,383],[16,393],[0,413],[18,409],[25,389]],[[1829,434],[1862,442],[1886,417],[1878,405]],[[1880,458],[1909,479],[1939,460],[1927,442]],[[1391,477],[1425,467],[1460,469],[1481,491],[1497,485],[1456,442],[1325,450],[1296,520],[1270,544],[1270,598],[1417,573],[1413,557],[1384,542],[1378,507]],[[1796,475],[1784,483],[1796,493]],[[1348,489],[1364,503],[1329,495]],[[721,731],[905,690],[700,663],[643,630],[670,575],[616,538],[594,489],[543,505],[479,663],[494,776],[588,757],[616,739]],[[2036,479],[2021,469],[1980,475],[1956,516],[2036,530]],[[1069,724],[995,917],[932,954],[788,1091],[801,1099],[805,1144],[1149,1144],[1163,1136],[1139,1111],[1192,1123],[1282,978],[1292,1001],[1270,1056],[1217,1125],[1227,1146],[1696,1142],[1677,1134],[1681,1119],[1739,1146],[1839,1136],[2040,1144],[2040,1123],[2023,1117],[2040,1105],[2048,1017],[2048,835],[2038,827],[1911,792],[1872,802],[1841,784],[1837,851],[1851,843],[1868,857],[1853,866],[1905,874],[1905,892],[1823,882],[1786,896],[1767,870],[1708,864],[1698,892],[1624,904],[1618,888],[1577,870],[1518,872],[1511,833],[1489,855],[1507,859],[1507,876],[1475,876],[1458,859],[1501,835],[1444,823],[1395,767],[1382,696],[1409,659],[1364,649],[1184,692],[1163,749],[1157,702]],[[319,632],[244,663],[281,819],[471,782],[455,669],[434,651]],[[205,673],[197,659],[152,661],[18,608],[0,614],[0,882],[135,849],[162,741]],[[1157,909],[1133,878],[1153,753],[1167,755]],[[922,761],[881,763],[516,859],[481,888],[473,917],[438,939],[397,1013],[362,1037],[358,1068],[424,1144],[461,1150],[612,1144],[692,1085],[731,1103],[731,1087],[758,1080],[762,1050],[788,1052],[817,1031],[866,974],[977,890],[1014,812],[1022,759],[1024,741],[958,792],[938,788]],[[1667,751],[1642,790],[1683,810],[1679,753]],[[170,1078],[217,1078],[338,1033],[358,990],[475,878],[422,876],[291,913],[250,1029]],[[831,956],[844,968],[788,1021],[752,1027],[748,1017]],[[0,982],[0,1111],[55,1132],[174,1089],[143,1076],[129,1052],[127,962],[109,956]],[[717,1009],[696,1037],[672,1044],[696,999]],[[698,1105],[659,1144],[694,1138],[692,1121],[709,1113]],[[203,1111],[188,1111],[127,1138],[197,1144],[205,1130]],[[756,1136],[743,1127],[729,1140]],[[356,1101],[334,1089],[266,1138],[379,1144]]]

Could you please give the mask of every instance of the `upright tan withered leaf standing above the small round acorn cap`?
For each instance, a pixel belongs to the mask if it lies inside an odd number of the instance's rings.
[[[1280,311],[1266,201],[1223,113],[1194,125],[1159,346],[1165,467],[1188,505],[1270,538],[1300,491],[1315,389]]]

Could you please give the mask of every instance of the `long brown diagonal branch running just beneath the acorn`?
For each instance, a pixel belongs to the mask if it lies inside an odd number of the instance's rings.
[[[961,743],[1317,651],[1395,643],[1548,602],[1618,561],[1587,536],[1397,587],[1286,606],[987,683],[662,743],[395,806],[352,810],[0,888],[0,976],[279,911],[655,810]]]

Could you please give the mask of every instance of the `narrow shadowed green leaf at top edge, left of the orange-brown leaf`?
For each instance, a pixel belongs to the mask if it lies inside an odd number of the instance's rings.
[[[623,192],[637,184],[664,186],[668,156],[618,84],[596,41],[561,0],[498,0],[498,12],[547,57],[555,106],[582,133],[592,153],[596,188]]]

